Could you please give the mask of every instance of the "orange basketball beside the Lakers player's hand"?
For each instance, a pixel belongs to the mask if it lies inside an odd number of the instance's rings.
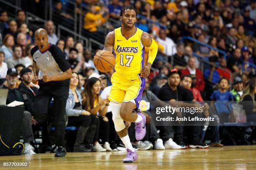
[[[100,72],[109,72],[115,67],[115,57],[112,52],[101,50],[94,56],[93,63]]]

